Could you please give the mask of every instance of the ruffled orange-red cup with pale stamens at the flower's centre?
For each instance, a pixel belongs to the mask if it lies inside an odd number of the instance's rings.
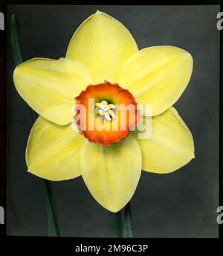
[[[123,140],[140,118],[129,90],[109,81],[88,85],[75,99],[74,122],[91,143],[109,146]]]

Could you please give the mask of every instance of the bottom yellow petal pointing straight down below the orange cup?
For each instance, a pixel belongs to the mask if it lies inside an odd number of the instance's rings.
[[[123,208],[140,178],[142,163],[137,140],[129,136],[107,147],[86,141],[80,159],[83,179],[94,199],[112,212]]]

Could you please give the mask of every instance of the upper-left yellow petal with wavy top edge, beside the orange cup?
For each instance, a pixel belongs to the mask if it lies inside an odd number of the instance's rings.
[[[75,96],[92,82],[83,64],[65,58],[28,60],[16,67],[13,79],[25,102],[58,125],[71,122]]]

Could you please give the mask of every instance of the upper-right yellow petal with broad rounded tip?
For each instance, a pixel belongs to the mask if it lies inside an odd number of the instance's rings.
[[[138,104],[152,104],[152,116],[174,104],[190,81],[193,58],[183,49],[155,46],[142,49],[124,64],[120,86],[135,96]]]

